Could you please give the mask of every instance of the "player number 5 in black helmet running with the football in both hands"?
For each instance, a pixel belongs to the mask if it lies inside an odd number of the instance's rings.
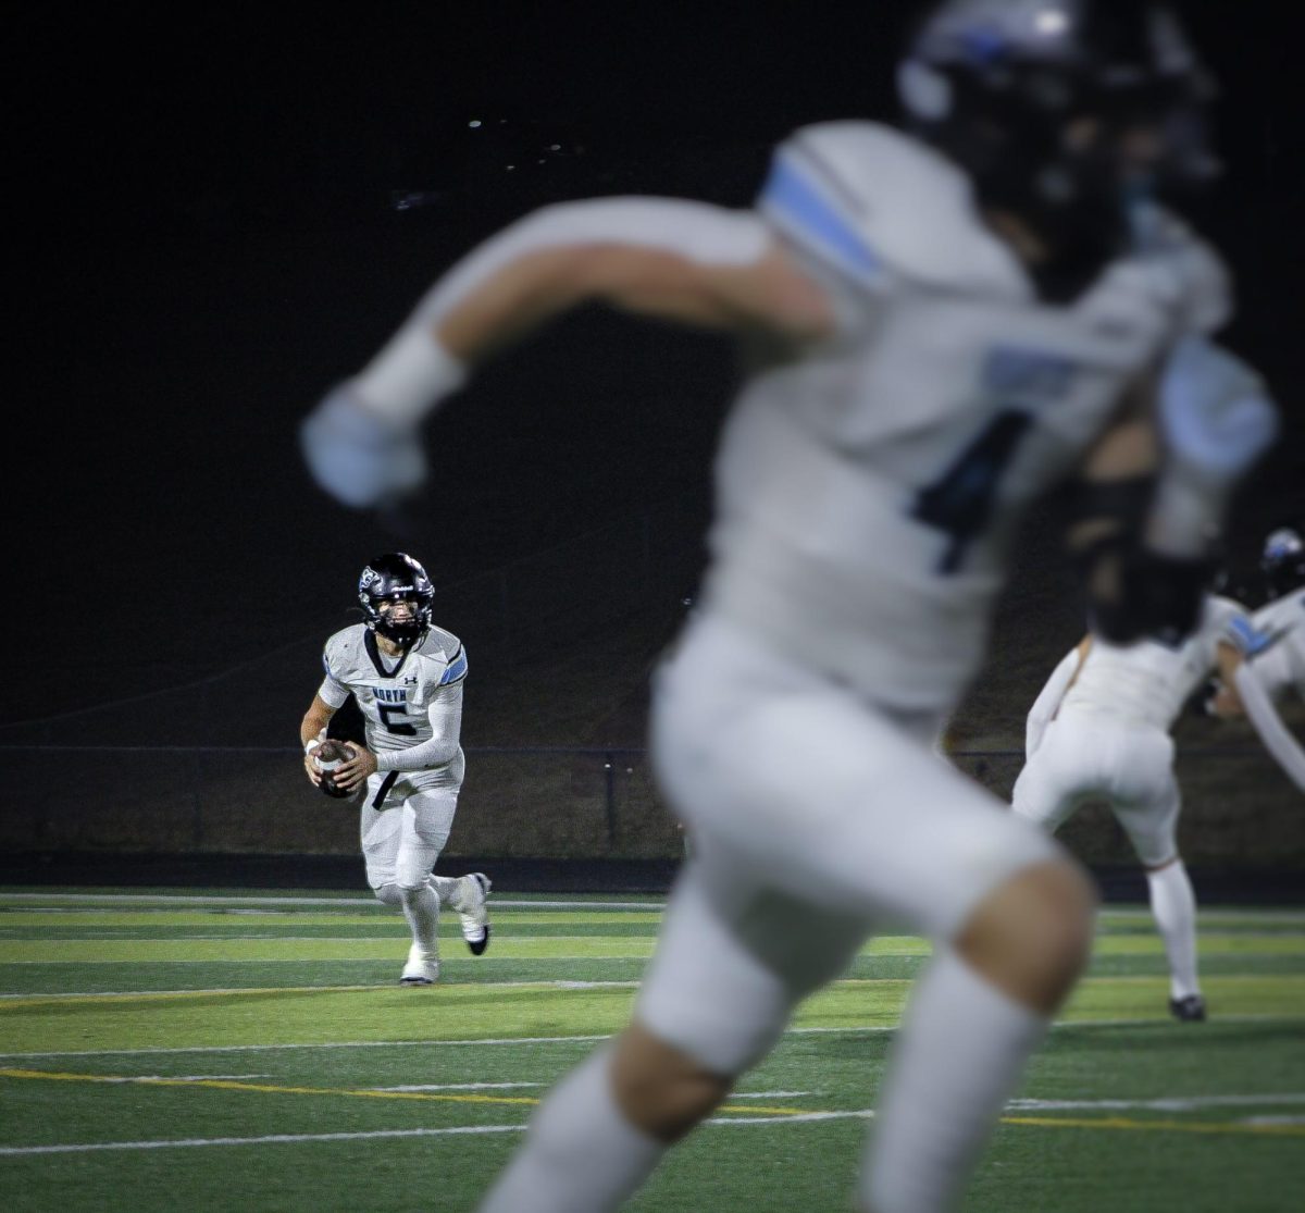
[[[352,695],[363,713],[367,746],[333,772],[342,789],[364,789],[363,857],[367,881],[385,905],[403,911],[412,945],[399,981],[429,986],[440,977],[440,906],[455,910],[475,956],[489,944],[483,872],[435,876],[432,868],[453,828],[466,760],[462,683],[467,654],[452,632],[431,623],[435,588],[403,552],[377,556],[358,582],[365,623],[326,641],[326,676],[299,726],[304,769],[316,785],[313,751],[335,712]]]

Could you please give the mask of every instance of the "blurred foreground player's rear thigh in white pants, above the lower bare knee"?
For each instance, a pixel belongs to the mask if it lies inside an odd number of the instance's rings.
[[[705,1069],[739,1075],[868,934],[864,919],[757,887],[729,857],[698,847],[672,889],[636,1018]]]

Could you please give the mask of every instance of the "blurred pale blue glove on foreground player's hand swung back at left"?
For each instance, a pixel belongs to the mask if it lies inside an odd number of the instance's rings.
[[[304,419],[299,444],[317,484],[354,509],[393,501],[425,480],[416,426],[364,407],[347,383],[329,392]]]

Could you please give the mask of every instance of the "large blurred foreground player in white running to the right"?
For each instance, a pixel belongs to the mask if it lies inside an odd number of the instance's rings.
[[[483,1213],[617,1208],[891,924],[927,934],[857,1201],[950,1208],[1092,935],[1082,870],[930,743],[980,663],[1027,504],[1116,642],[1184,635],[1207,537],[1271,440],[1238,379],[1155,407],[1228,315],[1218,259],[1152,204],[1205,178],[1205,76],[1160,5],[955,0],[900,73],[911,133],[783,142],[756,209],[547,208],[454,266],[303,428],[367,507],[424,474],[418,426],[576,304],[744,336],[711,565],[655,679],[651,751],[693,836],[632,1024],[547,1097]]]

